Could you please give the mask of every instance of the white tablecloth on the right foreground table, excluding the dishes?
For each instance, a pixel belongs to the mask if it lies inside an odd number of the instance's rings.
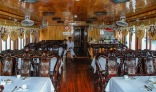
[[[144,88],[144,85],[152,86],[152,82],[147,82],[149,76],[137,76],[136,79],[124,79],[123,77],[112,77],[105,91],[106,92],[149,92]],[[156,81],[156,76],[152,76]],[[156,88],[153,88],[150,92],[156,92]]]

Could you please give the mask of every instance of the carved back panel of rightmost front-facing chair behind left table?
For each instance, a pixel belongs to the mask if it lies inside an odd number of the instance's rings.
[[[50,76],[49,68],[50,68],[50,59],[41,58],[39,75],[42,77],[49,77]]]

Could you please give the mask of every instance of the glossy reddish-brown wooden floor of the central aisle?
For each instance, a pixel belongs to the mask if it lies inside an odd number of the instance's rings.
[[[86,58],[67,61],[59,83],[59,92],[95,92],[93,76],[88,73]]]

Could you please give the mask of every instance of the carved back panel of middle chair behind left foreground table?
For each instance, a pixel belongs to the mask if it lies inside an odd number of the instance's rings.
[[[20,73],[22,76],[30,76],[30,68],[31,68],[30,58],[22,58],[21,70]]]

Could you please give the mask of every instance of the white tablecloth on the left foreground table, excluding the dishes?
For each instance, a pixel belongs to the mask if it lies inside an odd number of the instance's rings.
[[[0,80],[11,79],[13,82],[4,85],[4,92],[11,92],[15,86],[21,87],[23,84],[28,86],[27,89],[19,89],[14,92],[54,92],[54,87],[49,77],[28,77],[16,78],[15,76],[0,76]]]

